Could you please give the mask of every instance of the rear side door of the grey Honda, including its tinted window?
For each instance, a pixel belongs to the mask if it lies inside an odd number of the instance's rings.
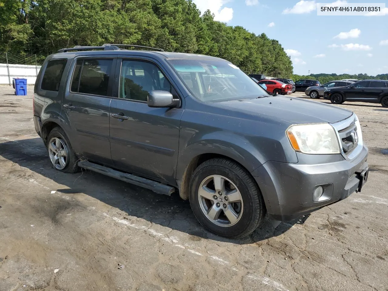
[[[73,136],[74,151],[81,158],[107,165],[112,165],[109,104],[115,63],[114,57],[75,59],[62,102],[62,115]]]

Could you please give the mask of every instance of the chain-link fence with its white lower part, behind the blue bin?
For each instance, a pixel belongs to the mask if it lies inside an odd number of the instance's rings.
[[[13,78],[34,84],[44,60],[44,55],[0,53],[0,85],[12,85]]]

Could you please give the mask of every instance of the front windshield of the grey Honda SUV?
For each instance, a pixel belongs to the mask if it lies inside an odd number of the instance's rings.
[[[227,61],[170,59],[191,94],[204,102],[268,96],[255,81]]]

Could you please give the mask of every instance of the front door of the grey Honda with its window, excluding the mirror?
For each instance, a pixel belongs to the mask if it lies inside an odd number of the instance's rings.
[[[147,96],[152,90],[169,91],[180,98],[160,68],[160,64],[144,58],[118,59],[109,109],[111,154],[117,168],[175,184],[184,106],[148,106]]]

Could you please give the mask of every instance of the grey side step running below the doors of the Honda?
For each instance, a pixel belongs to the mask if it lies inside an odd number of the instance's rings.
[[[103,175],[106,175],[106,176],[109,176],[112,178],[116,178],[116,179],[124,181],[124,182],[128,182],[128,183],[133,184],[133,185],[137,185],[137,186],[149,189],[149,190],[151,190],[155,193],[158,193],[158,194],[164,194],[167,196],[171,196],[171,194],[173,192],[175,192],[174,187],[163,185],[163,184],[160,184],[159,182],[148,180],[146,178],[142,178],[142,177],[138,177],[135,175],[116,171],[116,170],[113,170],[111,168],[100,166],[100,165],[90,163],[87,161],[78,162],[78,166],[81,168],[90,170],[90,171],[95,171],[97,173],[100,173],[100,174],[103,174]]]

